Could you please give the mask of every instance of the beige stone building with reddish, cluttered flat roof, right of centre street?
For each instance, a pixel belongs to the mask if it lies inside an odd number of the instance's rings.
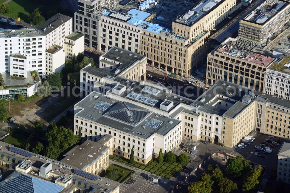
[[[206,84],[222,79],[262,92],[267,67],[275,59],[240,48],[240,41],[229,38],[208,54]]]

